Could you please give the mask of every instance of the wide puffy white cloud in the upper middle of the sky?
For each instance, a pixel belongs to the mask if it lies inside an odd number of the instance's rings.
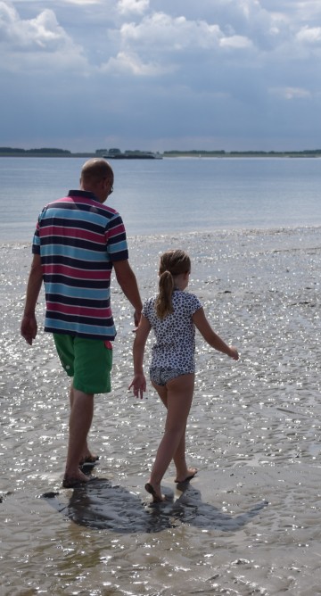
[[[186,69],[191,76],[193,62],[202,56],[208,60],[209,51],[215,60],[220,52],[249,50],[252,46],[248,38],[225,34],[216,24],[188,21],[164,12],[153,12],[137,23],[125,21],[110,37],[119,51],[103,63],[101,70],[146,78]]]

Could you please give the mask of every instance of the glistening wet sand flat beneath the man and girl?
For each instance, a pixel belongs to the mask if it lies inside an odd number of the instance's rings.
[[[19,335],[30,247],[2,244],[1,596],[321,593],[321,228],[129,246],[143,297],[160,252],[188,250],[190,290],[241,360],[197,337],[187,452],[199,473],[177,488],[169,468],[171,500],[152,507],[144,483],[164,412],[151,387],[143,401],[128,393],[132,310],[113,281],[112,393],[96,397],[90,435],[98,479],[62,489],[69,383],[41,330],[43,295],[36,343]]]

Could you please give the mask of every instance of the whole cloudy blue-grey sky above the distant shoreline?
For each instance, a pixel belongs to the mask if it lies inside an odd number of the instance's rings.
[[[321,148],[321,0],[0,0],[0,146]]]

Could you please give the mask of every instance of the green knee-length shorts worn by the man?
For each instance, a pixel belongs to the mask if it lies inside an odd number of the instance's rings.
[[[83,393],[111,391],[111,342],[74,335],[53,334],[54,344],[73,386]]]

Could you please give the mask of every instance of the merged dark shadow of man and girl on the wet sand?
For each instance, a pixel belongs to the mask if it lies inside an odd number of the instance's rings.
[[[69,501],[64,502],[63,493],[45,493],[42,497],[79,526],[118,534],[156,533],[181,524],[231,532],[245,526],[268,505],[268,501],[259,501],[232,517],[202,502],[201,492],[191,484],[179,484],[178,488],[182,493],[176,501],[174,494],[162,487],[167,500],[152,505],[106,478],[94,478],[74,488]]]

